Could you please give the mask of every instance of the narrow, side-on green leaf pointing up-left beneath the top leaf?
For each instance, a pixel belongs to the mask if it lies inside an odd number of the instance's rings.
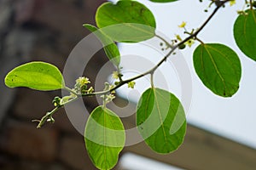
[[[111,60],[114,65],[119,66],[120,54],[117,45],[101,30],[98,30],[96,26],[91,26],[90,24],[84,24],[83,26],[96,34],[96,37],[98,37],[103,44],[103,48],[108,59]]]

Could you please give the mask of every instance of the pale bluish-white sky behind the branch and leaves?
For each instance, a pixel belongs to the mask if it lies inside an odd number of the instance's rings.
[[[177,33],[181,34],[182,31],[177,25],[181,24],[182,21],[187,22],[188,30],[201,26],[201,23],[207,19],[207,16],[211,14],[214,8],[214,5],[212,5],[212,9],[205,13],[204,9],[209,3],[206,0],[204,3],[199,3],[199,0],[181,0],[175,3],[150,3],[148,0],[138,0],[138,2],[145,4],[154,13],[157,30],[164,32],[170,38]],[[232,98],[221,98],[212,94],[195,75],[192,53],[198,43],[192,48],[182,50],[181,53],[189,65],[193,82],[193,99],[187,118],[190,124],[205,128],[213,133],[218,133],[221,136],[234,139],[256,149],[256,79],[255,74],[253,74],[256,72],[256,62],[248,59],[236,47],[236,42],[233,38],[233,24],[237,17],[236,10],[243,7],[244,1],[236,2],[236,5],[232,7],[227,4],[226,8],[220,9],[212,21],[201,31],[199,37],[204,42],[224,43],[237,52],[242,66],[240,89]],[[120,52],[121,55],[139,54],[147,56],[153,62],[160,59],[156,59],[153,56],[154,52],[151,49],[147,50],[138,44],[122,44]],[[133,62],[121,62],[121,64],[124,66],[124,70],[131,70],[131,66],[135,65]],[[168,67],[168,65],[166,66]],[[180,97],[181,88],[178,86],[178,77],[173,66],[171,65],[170,67],[169,65],[164,72],[167,74],[165,77],[174,76],[172,77],[171,85],[172,93]],[[140,83],[143,85],[140,86]],[[145,82],[137,82],[136,88],[143,89],[145,88],[144,84]],[[149,87],[149,84],[146,86]],[[122,88],[120,91],[134,99],[127,91],[127,88]]]

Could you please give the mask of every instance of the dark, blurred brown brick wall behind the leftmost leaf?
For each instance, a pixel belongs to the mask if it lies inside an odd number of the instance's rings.
[[[0,169],[95,169],[84,148],[84,139],[65,111],[55,114],[55,124],[36,129],[32,119],[53,109],[60,92],[10,89],[6,73],[32,60],[54,64],[62,71],[68,54],[89,32],[83,23],[94,23],[100,0],[1,0],[0,1]],[[93,58],[89,77],[106,62]],[[93,80],[92,80],[93,81]],[[93,108],[95,102],[89,103]]]

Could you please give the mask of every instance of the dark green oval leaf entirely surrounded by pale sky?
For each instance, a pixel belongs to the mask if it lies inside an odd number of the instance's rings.
[[[241,63],[237,54],[218,43],[199,45],[194,52],[194,67],[204,85],[214,94],[231,97],[241,79]]]

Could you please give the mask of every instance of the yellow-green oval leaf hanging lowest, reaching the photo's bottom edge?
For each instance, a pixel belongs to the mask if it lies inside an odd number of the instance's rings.
[[[125,128],[113,111],[98,106],[90,114],[84,140],[94,165],[99,169],[112,169],[125,145]]]

